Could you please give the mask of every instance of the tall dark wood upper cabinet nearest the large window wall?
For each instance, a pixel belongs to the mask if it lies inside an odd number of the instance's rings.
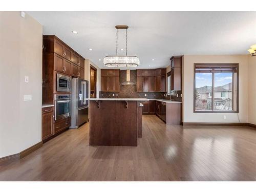
[[[182,56],[170,58],[170,90],[182,90]]]

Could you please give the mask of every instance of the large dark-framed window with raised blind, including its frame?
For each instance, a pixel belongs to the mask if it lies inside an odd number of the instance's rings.
[[[194,68],[194,112],[238,112],[239,65],[195,63]]]

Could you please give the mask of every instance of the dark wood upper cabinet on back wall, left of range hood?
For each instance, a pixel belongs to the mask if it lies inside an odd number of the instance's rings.
[[[119,72],[119,69],[101,69],[101,91],[120,91]]]

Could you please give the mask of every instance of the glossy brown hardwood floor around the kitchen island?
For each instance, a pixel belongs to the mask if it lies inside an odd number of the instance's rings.
[[[255,181],[256,130],[143,116],[137,147],[89,146],[89,123],[0,167],[5,181]]]

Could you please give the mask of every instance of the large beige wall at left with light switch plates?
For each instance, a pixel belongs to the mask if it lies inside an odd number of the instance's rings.
[[[0,12],[0,158],[41,141],[42,26],[19,14]]]

